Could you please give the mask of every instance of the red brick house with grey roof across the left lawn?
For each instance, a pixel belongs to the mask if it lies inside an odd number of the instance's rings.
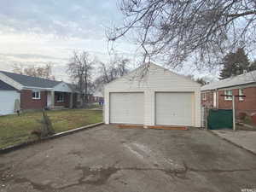
[[[0,81],[17,90],[22,110],[77,108],[81,103],[79,90],[73,84],[67,84],[63,81],[41,79],[3,71],[0,71]],[[15,100],[9,99],[9,105],[13,105]],[[1,102],[0,106],[3,106]]]

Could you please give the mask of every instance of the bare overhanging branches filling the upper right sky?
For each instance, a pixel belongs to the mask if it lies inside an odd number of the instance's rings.
[[[109,41],[137,33],[144,60],[161,56],[172,67],[191,56],[212,67],[244,44],[255,46],[255,0],[120,0],[124,25],[108,30]]]

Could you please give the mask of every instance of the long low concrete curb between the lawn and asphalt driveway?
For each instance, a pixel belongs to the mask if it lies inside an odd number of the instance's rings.
[[[30,145],[33,145],[33,144],[36,144],[36,143],[43,143],[44,141],[47,141],[49,139],[54,139],[54,138],[58,138],[58,137],[67,136],[67,135],[73,134],[75,132],[84,131],[84,130],[87,130],[87,129],[90,129],[90,128],[93,128],[93,127],[96,127],[96,126],[99,126],[99,125],[103,125],[103,124],[104,123],[101,122],[101,123],[96,123],[96,124],[92,124],[92,125],[86,125],[86,126],[82,126],[82,127],[73,129],[73,130],[59,132],[59,133],[56,133],[55,135],[52,135],[52,136],[49,136],[49,137],[44,137],[42,139],[38,139],[38,140],[34,140],[34,141],[28,141],[26,143],[20,143],[20,144],[17,144],[17,145],[12,145],[12,146],[9,146],[7,148],[0,148],[0,154],[7,154],[7,153],[9,153],[11,151],[14,151],[14,150],[17,150],[19,148],[25,148],[26,146],[30,146]]]

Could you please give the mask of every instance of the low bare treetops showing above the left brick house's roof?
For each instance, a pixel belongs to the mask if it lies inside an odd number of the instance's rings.
[[[22,65],[15,64],[13,68],[14,73],[55,80],[55,76],[52,74],[52,65],[50,63],[46,64],[44,67],[24,67]]]

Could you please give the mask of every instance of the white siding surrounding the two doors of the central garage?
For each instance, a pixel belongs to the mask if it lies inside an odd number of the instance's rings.
[[[104,90],[104,122],[109,124],[111,105],[110,95],[113,92],[143,92],[144,113],[143,125],[155,125],[155,93],[156,92],[189,92],[193,93],[192,125],[201,126],[201,85],[182,75],[172,73],[156,65],[150,65],[147,76],[141,79],[140,69],[113,80],[105,85]]]

